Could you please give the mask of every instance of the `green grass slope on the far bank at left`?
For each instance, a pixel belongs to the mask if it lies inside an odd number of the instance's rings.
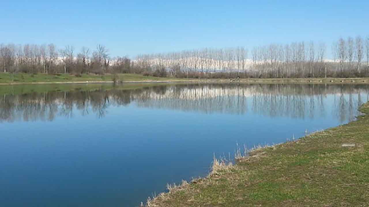
[[[142,76],[141,74],[118,74],[118,81],[167,81],[170,78],[160,78],[154,76]],[[82,74],[77,77],[73,74],[29,74],[29,73],[0,73],[0,84],[12,83],[65,83],[65,82],[86,82],[86,81],[113,81],[113,75]]]

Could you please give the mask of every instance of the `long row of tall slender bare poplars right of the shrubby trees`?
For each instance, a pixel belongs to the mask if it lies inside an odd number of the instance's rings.
[[[325,78],[369,76],[369,36],[340,38],[327,59],[325,43],[293,42],[140,55],[140,68],[192,78]],[[365,60],[366,57],[366,60]]]

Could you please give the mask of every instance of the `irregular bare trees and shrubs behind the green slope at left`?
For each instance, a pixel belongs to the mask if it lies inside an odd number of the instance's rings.
[[[79,53],[73,46],[57,49],[56,45],[0,45],[0,67],[6,73],[131,73],[131,60],[116,57],[114,64],[103,45],[91,51],[82,47]]]

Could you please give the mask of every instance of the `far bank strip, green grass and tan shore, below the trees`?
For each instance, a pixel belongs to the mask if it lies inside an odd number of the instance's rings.
[[[167,83],[167,82],[208,82],[208,83],[369,83],[369,78],[247,78],[247,79],[196,79],[143,76],[141,74],[32,74],[0,73],[0,85],[18,84],[72,84],[72,83]]]

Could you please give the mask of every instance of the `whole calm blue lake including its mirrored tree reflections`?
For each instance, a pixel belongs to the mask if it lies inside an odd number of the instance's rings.
[[[0,97],[7,207],[138,206],[166,183],[207,175],[214,153],[347,123],[369,97],[368,85],[324,84],[14,91]]]

